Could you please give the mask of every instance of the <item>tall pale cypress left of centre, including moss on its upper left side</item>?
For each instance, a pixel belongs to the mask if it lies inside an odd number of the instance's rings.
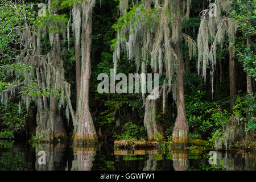
[[[92,39],[92,11],[95,0],[75,2],[72,29],[76,53],[76,122],[73,141],[76,144],[97,143],[98,138],[89,111],[90,48]]]

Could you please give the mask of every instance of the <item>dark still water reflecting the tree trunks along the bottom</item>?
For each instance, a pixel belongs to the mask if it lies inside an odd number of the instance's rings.
[[[46,154],[46,164],[38,155]],[[210,151],[114,150],[105,143],[97,147],[72,147],[69,144],[38,144],[0,140],[0,170],[253,170],[255,153],[242,151],[212,151],[215,160],[209,160]],[[214,157],[212,157],[214,158]]]

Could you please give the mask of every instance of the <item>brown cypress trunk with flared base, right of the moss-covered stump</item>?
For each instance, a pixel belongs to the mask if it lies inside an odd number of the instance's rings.
[[[175,0],[174,9],[181,13],[180,9],[180,1]],[[177,28],[174,28],[177,31],[175,34],[181,35],[182,31],[182,20],[180,13],[177,15],[176,25]],[[172,143],[178,146],[187,146],[188,144],[188,123],[187,116],[185,113],[185,98],[184,98],[184,63],[183,63],[183,55],[182,55],[182,37],[179,36],[176,44],[174,45],[174,50],[177,54],[178,59],[180,60],[179,71],[177,72],[177,96],[176,96],[176,104],[177,104],[177,118],[174,126],[174,131],[172,132]]]

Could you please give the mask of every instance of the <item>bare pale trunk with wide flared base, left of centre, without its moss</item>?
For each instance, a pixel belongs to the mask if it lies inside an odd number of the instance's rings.
[[[90,46],[92,39],[92,7],[94,1],[82,1],[82,32],[81,32],[81,67],[79,67],[79,59],[76,67],[79,69],[77,76],[77,85],[79,85],[79,94],[77,94],[77,126],[73,133],[73,142],[79,145],[95,144],[98,142],[96,130],[93,124],[92,116],[89,110],[89,82],[90,82]],[[75,5],[77,6],[77,5]],[[78,36],[76,35],[76,38]],[[76,52],[79,58],[80,52]]]

